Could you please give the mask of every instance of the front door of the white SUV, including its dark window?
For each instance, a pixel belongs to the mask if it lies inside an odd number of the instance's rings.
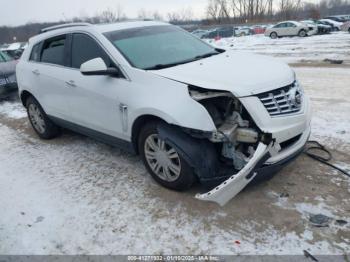
[[[130,88],[130,82],[112,76],[86,76],[79,70],[81,64],[98,57],[107,66],[115,66],[95,39],[83,33],[72,34],[71,69],[66,83],[70,90],[70,118],[80,126],[127,140],[127,112],[123,111],[120,97]]]

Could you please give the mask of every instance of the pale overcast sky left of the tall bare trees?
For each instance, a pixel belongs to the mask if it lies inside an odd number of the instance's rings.
[[[207,0],[0,0],[0,4],[0,25],[17,26],[94,16],[106,9],[116,10],[118,5],[129,18],[136,18],[140,9],[158,10],[165,16],[183,8],[191,8],[196,18],[202,18]]]

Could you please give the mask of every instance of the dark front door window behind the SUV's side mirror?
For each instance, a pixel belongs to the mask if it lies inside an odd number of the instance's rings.
[[[102,50],[101,46],[90,36],[85,34],[73,34],[72,43],[72,67],[80,66],[95,58],[102,58],[107,67],[111,66],[108,55]]]

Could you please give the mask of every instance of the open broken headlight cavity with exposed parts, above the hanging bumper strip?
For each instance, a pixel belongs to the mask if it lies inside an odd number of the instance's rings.
[[[231,92],[189,86],[189,94],[211,116],[217,130],[207,138],[218,145],[223,161],[230,161],[237,171],[242,170],[266,135]]]

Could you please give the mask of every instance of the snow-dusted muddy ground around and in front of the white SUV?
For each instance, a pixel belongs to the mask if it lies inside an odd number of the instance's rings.
[[[350,171],[350,69],[295,69],[314,138]],[[17,101],[0,103],[0,137],[0,254],[350,253],[350,180],[305,156],[219,208],[195,200],[198,189],[161,188],[119,149],[68,131],[39,140]],[[309,223],[318,213],[329,227]]]

